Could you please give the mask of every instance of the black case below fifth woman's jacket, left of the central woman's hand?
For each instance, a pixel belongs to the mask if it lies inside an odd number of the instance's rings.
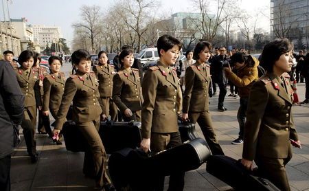
[[[108,154],[122,148],[137,148],[141,144],[141,122],[101,122],[99,134]]]

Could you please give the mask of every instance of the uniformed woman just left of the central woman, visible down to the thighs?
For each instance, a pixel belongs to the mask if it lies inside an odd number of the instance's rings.
[[[113,100],[125,122],[141,121],[141,80],[139,69],[131,68],[134,63],[132,49],[124,49],[119,54],[122,69],[113,79]]]

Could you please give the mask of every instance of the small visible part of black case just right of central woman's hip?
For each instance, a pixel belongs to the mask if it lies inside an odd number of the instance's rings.
[[[198,137],[195,131],[195,124],[178,120],[179,133],[181,134],[181,142],[187,142]]]

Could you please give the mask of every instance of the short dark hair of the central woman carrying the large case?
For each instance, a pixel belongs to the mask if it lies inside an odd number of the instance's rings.
[[[160,36],[160,38],[157,41],[157,49],[159,57],[161,57],[160,50],[163,49],[165,52],[167,52],[169,49],[172,49],[174,45],[179,47],[179,50],[181,49],[181,42],[174,38],[173,36],[170,36],[168,34],[164,34],[163,36]]]

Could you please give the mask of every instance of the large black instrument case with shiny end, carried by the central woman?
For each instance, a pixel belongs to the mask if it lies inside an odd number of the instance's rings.
[[[204,139],[148,156],[139,148],[124,148],[111,154],[108,172],[116,190],[151,190],[152,177],[168,176],[201,166],[210,155]]]

